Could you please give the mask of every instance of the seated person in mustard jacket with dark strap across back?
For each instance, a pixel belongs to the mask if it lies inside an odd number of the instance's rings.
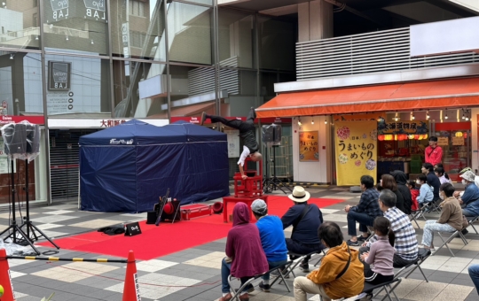
[[[329,250],[317,270],[294,279],[294,299],[306,301],[308,293],[319,294],[324,301],[357,296],[365,282],[364,267],[357,251],[349,249],[341,228],[334,222],[322,224],[318,236]]]

